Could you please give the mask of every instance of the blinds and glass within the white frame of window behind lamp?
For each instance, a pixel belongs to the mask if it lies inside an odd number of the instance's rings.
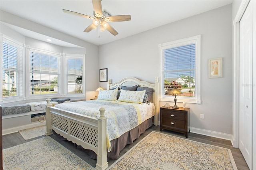
[[[174,87],[182,90],[183,95],[194,97],[196,71],[196,44],[182,45],[163,49],[165,94]]]

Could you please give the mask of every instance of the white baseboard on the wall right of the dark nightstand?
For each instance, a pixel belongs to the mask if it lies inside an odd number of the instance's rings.
[[[232,134],[215,132],[215,131],[211,131],[211,130],[205,130],[205,129],[194,128],[194,127],[190,127],[190,132],[197,133],[197,134],[203,134],[203,135],[206,135],[206,136],[212,136],[212,137],[215,137],[215,138],[230,140],[231,143],[233,142]]]

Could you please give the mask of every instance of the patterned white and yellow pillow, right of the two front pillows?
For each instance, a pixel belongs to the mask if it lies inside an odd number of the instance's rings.
[[[120,97],[118,101],[124,101],[128,103],[142,103],[146,90],[144,91],[129,91],[129,90],[120,90]]]

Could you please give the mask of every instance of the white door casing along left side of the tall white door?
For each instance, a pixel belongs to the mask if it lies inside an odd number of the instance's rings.
[[[250,1],[242,1],[233,21],[233,137],[232,144],[239,148],[239,22]]]

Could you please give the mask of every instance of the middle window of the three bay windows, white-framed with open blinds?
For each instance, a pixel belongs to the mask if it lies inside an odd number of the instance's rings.
[[[27,55],[29,56],[28,99],[61,96],[60,53],[28,47]]]

